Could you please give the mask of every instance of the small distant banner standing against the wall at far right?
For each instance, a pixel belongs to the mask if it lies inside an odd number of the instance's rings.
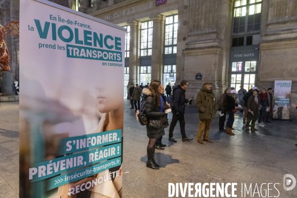
[[[274,82],[274,100],[273,118],[289,120],[290,119],[290,95],[292,81]]]

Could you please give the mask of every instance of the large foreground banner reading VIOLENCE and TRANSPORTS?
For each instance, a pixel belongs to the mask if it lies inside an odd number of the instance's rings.
[[[20,197],[121,198],[125,29],[20,0]]]

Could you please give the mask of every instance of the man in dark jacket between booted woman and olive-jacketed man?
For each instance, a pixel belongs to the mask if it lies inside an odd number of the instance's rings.
[[[189,86],[189,82],[186,80],[182,80],[180,85],[177,85],[173,88],[173,106],[172,106],[172,121],[170,123],[170,127],[169,127],[169,141],[171,142],[177,142],[174,138],[173,138],[173,130],[174,127],[177,124],[177,121],[180,122],[180,128],[181,128],[181,134],[182,134],[182,141],[192,141],[194,139],[190,139],[186,136],[186,130],[185,130],[185,103],[188,103],[189,100],[186,99],[186,89],[188,89]]]

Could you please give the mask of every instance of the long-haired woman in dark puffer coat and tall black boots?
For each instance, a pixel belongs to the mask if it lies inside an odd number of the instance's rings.
[[[144,88],[143,98],[146,100],[146,117],[148,120],[147,136],[148,141],[148,161],[147,167],[151,169],[159,169],[159,165],[155,162],[155,142],[157,138],[165,135],[164,127],[161,118],[166,115],[161,112],[161,107],[164,105],[163,100],[160,98],[161,82],[153,80],[150,82],[149,88]]]

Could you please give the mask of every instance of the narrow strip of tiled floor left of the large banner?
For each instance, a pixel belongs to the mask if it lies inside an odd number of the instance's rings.
[[[18,198],[19,102],[0,103],[0,198]]]

